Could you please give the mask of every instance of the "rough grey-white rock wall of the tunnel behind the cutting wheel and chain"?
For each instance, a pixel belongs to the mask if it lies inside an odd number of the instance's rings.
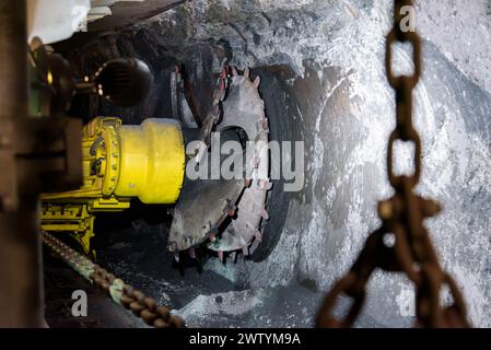
[[[206,268],[244,288],[300,282],[325,291],[379,224],[377,201],[391,195],[385,165],[395,125],[384,67],[388,19],[388,4],[373,1],[196,1],[66,56],[80,74],[120,56],[150,66],[155,79],[145,102],[120,109],[92,101],[85,110],[85,117],[117,115],[129,124],[172,115],[175,63],[185,67],[198,115],[208,108],[212,72],[222,62],[254,68],[253,75],[262,78],[271,137],[305,142],[305,186],[285,194],[274,184],[272,220],[265,229],[266,245],[273,248],[269,256],[259,250],[253,260],[210,260]],[[426,222],[431,236],[464,291],[471,320],[491,326],[491,95],[447,56],[423,42],[423,77],[414,92],[423,142],[418,191],[443,203],[443,213]],[[407,52],[396,57],[410,67]],[[396,165],[409,162],[404,153]],[[369,295],[365,313],[381,324],[407,325],[413,315],[413,289],[400,276],[377,272]]]

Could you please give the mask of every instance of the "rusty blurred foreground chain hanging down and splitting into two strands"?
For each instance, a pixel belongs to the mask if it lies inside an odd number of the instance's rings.
[[[390,133],[387,150],[387,172],[395,195],[378,203],[382,226],[366,240],[348,275],[338,281],[326,296],[316,318],[318,327],[350,327],[356,320],[366,295],[366,283],[376,268],[404,272],[413,283],[417,327],[469,327],[463,296],[452,277],[442,270],[423,220],[435,215],[440,205],[414,194],[421,174],[421,139],[412,124],[412,90],[421,75],[421,42],[416,32],[402,30],[401,9],[412,7],[412,0],[394,1],[394,27],[386,38],[386,70],[396,93],[397,126]],[[393,72],[391,48],[395,43],[409,43],[413,51],[412,75],[396,77]],[[394,173],[396,141],[414,144],[414,170],[411,176]],[[391,241],[390,241],[391,240]],[[441,291],[448,288],[453,303],[441,304]],[[342,319],[332,315],[337,299],[346,294],[352,300]]]

